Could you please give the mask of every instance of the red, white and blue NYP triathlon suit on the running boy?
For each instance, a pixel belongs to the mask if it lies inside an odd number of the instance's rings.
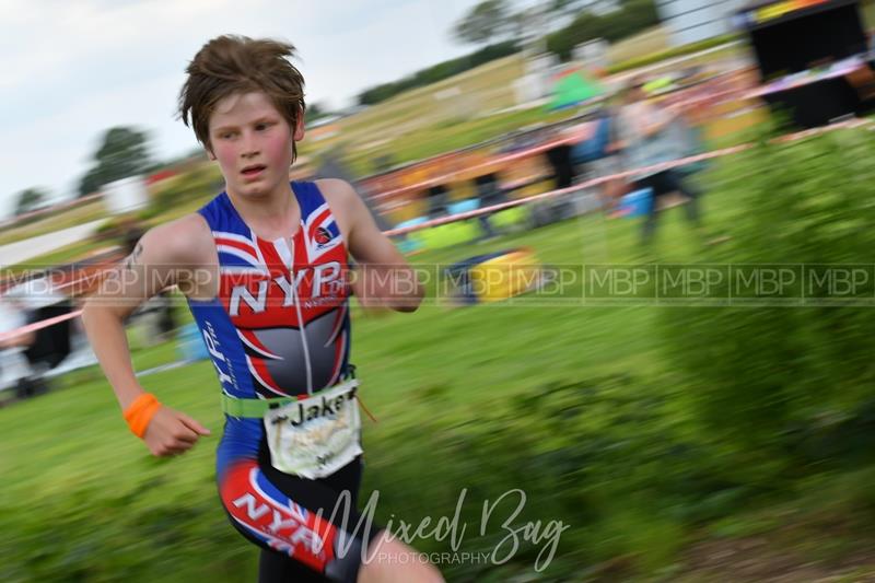
[[[300,228],[277,241],[259,238],[225,193],[198,211],[212,231],[220,285],[215,299],[189,300],[189,307],[222,389],[232,397],[310,395],[348,373],[343,237],[315,184],[295,182],[292,190]],[[283,576],[295,580],[354,581],[360,548],[373,533],[343,532],[329,517],[348,490],[353,502],[339,506],[335,522],[348,510],[350,527],[359,524],[354,501],[361,460],[320,480],[283,474],[270,465],[262,423],[225,416],[217,456],[219,491],[232,523],[267,549],[261,580],[280,564]],[[322,517],[316,515],[320,509]]]

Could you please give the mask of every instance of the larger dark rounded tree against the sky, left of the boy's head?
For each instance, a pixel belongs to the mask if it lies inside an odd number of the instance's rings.
[[[133,128],[106,130],[94,154],[94,165],[79,183],[79,196],[90,195],[103,185],[145,173],[153,167],[149,136]]]

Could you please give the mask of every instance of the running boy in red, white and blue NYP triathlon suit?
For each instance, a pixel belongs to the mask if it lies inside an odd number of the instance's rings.
[[[140,386],[124,320],[163,287],[186,295],[222,388],[220,498],[262,549],[259,581],[442,581],[355,509],[363,466],[349,295],[412,312],[422,288],[348,183],[289,180],[305,108],[293,55],[290,44],[240,36],[197,53],[179,115],[225,190],[147,232],[83,320],[131,431],[153,455],[178,455],[210,432]]]

